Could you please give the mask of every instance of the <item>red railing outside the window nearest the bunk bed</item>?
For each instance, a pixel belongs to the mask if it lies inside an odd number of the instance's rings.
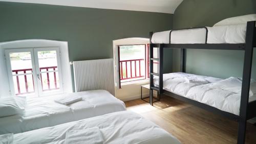
[[[144,61],[144,59],[133,59],[133,60],[119,61],[120,80],[127,80],[127,79],[135,79],[135,78],[144,77],[144,76],[141,76],[141,61]],[[127,64],[129,64],[129,63],[130,63],[130,76],[127,73],[128,72]],[[139,74],[137,74],[137,66],[139,67]],[[134,68],[134,70],[133,70],[133,68]],[[123,70],[124,70],[125,74],[123,74]],[[134,72],[135,75],[133,75],[133,72]]]

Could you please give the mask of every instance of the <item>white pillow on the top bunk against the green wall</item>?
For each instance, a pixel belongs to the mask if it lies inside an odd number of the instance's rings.
[[[247,21],[255,21],[255,20],[256,20],[256,14],[248,14],[248,15],[242,15],[242,16],[223,19],[217,22],[214,26],[246,24]]]

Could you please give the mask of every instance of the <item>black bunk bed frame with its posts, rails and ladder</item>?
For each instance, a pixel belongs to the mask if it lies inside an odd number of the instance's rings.
[[[181,98],[194,104],[198,107],[205,108],[211,112],[215,112],[218,114],[222,114],[231,118],[233,120],[238,121],[239,129],[238,129],[238,140],[237,143],[245,143],[245,134],[246,134],[246,121],[254,116],[256,116],[256,101],[248,103],[249,99],[249,90],[250,90],[250,79],[251,79],[251,67],[252,67],[252,55],[253,55],[253,47],[256,47],[256,28],[255,28],[256,21],[248,21],[246,27],[246,38],[245,43],[219,43],[219,44],[163,44],[163,43],[152,43],[152,35],[153,32],[150,33],[150,104],[153,105],[153,90],[157,90],[158,92],[162,93],[163,90],[163,48],[175,48],[181,49],[181,71],[185,72],[185,49],[209,49],[209,50],[242,50],[245,51],[244,53],[244,66],[243,66],[243,80],[242,80],[242,92],[241,92],[241,101],[240,101],[240,115],[234,115],[227,113],[225,111],[216,109],[214,107],[208,106],[206,104],[198,104],[193,103],[193,100],[188,98],[182,97],[176,94],[176,98]],[[184,29],[183,29],[184,30]],[[170,38],[170,37],[169,37]],[[159,49],[159,58],[153,57],[153,48],[158,47]],[[158,73],[153,73],[153,60],[159,61],[159,68]],[[159,87],[155,87],[153,83],[153,76],[159,76]],[[175,98],[174,97],[174,98]],[[180,99],[180,100],[182,100]]]

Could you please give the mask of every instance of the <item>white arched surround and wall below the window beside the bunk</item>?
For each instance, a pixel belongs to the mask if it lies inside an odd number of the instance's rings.
[[[118,45],[129,45],[129,44],[147,44],[150,43],[150,39],[148,38],[124,38],[124,39],[118,39],[113,40],[113,52],[114,52],[114,61],[115,61],[115,97],[122,100],[122,101],[130,101],[139,99],[141,95],[141,85],[149,84],[149,80],[141,80],[141,81],[135,81],[131,83],[125,83],[122,84],[119,89],[118,87],[118,57],[117,57],[117,46]],[[142,90],[143,97],[148,96],[149,90],[144,89]]]

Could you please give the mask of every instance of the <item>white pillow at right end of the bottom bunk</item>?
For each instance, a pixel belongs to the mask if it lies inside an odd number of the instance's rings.
[[[227,90],[230,92],[234,92],[234,93],[239,93],[241,94],[242,91],[242,81],[240,78],[234,78],[234,77],[230,77],[228,79],[219,81],[217,83],[213,83],[211,85],[211,87],[213,88],[218,88],[218,89],[223,89],[223,90]],[[254,93],[256,93],[255,90],[256,86],[254,83],[251,84],[250,86],[250,93],[249,96],[251,97]],[[254,91],[254,92],[253,92]]]

